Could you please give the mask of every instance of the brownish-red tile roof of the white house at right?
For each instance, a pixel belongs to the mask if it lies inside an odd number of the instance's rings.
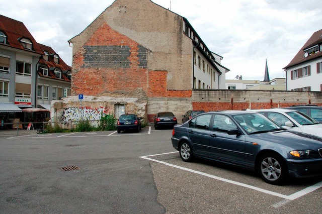
[[[319,57],[322,57],[322,51],[312,54],[310,56],[304,57],[305,49],[312,47],[317,44],[322,44],[322,29],[313,33],[313,35],[307,40],[307,42],[303,45],[303,47],[298,51],[295,57],[291,60],[291,62],[284,67],[284,69],[292,67],[294,65],[298,65]]]

